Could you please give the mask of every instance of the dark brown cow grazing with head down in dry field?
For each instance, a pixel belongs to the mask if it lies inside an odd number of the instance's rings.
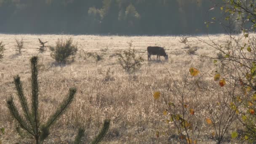
[[[149,46],[147,47],[147,60],[151,60],[151,55],[157,55],[157,59],[160,60],[160,56],[164,56],[165,60],[168,60],[168,54],[165,53],[165,50],[159,46]]]

